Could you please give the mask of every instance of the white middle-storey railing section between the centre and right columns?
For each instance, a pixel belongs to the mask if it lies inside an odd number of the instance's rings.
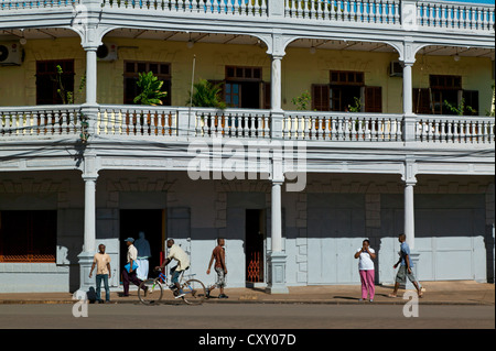
[[[401,141],[401,114],[287,112],[283,138],[325,141]]]

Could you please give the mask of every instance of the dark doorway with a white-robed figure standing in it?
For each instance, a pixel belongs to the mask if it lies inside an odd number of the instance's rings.
[[[165,210],[162,209],[126,209],[120,210],[120,266],[126,264],[128,248],[123,242],[127,238],[139,239],[139,232],[144,232],[144,239],[150,243],[149,276],[153,267],[160,265],[160,253],[165,240]]]

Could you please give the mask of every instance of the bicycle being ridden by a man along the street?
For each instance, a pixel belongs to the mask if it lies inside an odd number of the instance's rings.
[[[165,284],[165,286],[168,286],[172,290],[174,298],[176,299],[182,298],[183,301],[186,303],[187,305],[203,304],[203,301],[207,296],[205,285],[201,281],[192,278],[183,283],[183,275],[184,271],[181,272],[180,277],[180,285],[181,285],[180,289],[182,290],[182,294],[179,294],[175,284],[173,283],[171,285],[168,284],[168,276],[162,272],[160,272],[159,276],[155,278],[149,278],[143,281],[138,289],[138,297],[140,301],[143,305],[159,304],[162,300],[164,294],[163,284]],[[193,275],[194,274],[190,275],[190,277]]]

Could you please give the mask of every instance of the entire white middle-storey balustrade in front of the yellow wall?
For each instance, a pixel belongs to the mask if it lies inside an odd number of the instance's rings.
[[[79,138],[82,106],[1,107],[0,140]],[[403,117],[391,113],[284,111],[276,131],[270,110],[100,105],[89,118],[89,134],[128,139],[239,138],[323,142],[401,142]],[[276,117],[279,118],[279,117]],[[91,127],[93,125],[93,127]],[[492,144],[495,121],[488,117],[416,117],[420,143]]]

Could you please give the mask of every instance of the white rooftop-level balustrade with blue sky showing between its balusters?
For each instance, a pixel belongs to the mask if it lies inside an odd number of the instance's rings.
[[[270,1],[276,3],[271,4]],[[98,2],[98,1],[91,1]],[[400,26],[411,13],[402,13],[402,0],[100,0],[101,14],[149,10],[160,13],[200,13],[216,17],[277,18],[319,22],[355,22]],[[82,0],[0,0],[7,11],[73,8]],[[414,1],[416,25],[494,32],[495,7],[462,2]],[[271,10],[272,9],[272,10]]]

